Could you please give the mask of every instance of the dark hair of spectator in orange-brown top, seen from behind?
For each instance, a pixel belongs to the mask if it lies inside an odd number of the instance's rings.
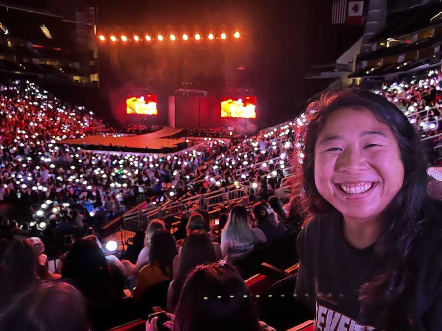
[[[178,255],[173,235],[166,229],[159,229],[150,240],[150,264],[158,263],[161,272],[167,277],[173,277],[172,263]]]

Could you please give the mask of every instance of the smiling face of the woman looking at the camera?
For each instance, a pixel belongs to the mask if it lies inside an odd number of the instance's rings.
[[[403,180],[399,146],[388,125],[368,109],[330,114],[315,144],[315,184],[345,219],[376,220]]]

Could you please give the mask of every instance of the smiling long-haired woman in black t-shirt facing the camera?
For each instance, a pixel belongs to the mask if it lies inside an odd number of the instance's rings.
[[[442,330],[442,208],[414,128],[363,90],[323,94],[306,114],[296,294],[317,330]]]

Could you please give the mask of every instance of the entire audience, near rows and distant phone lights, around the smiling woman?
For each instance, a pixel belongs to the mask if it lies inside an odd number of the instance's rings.
[[[376,93],[397,104],[422,137],[433,136],[440,131],[440,76],[426,72]],[[274,330],[259,321],[241,264],[300,230],[296,197],[283,190],[283,179],[303,114],[253,137],[206,138],[166,157],[107,155],[60,143],[91,131],[93,114],[84,108],[28,81],[1,90],[1,330],[106,330],[118,324],[100,317],[127,321],[116,317],[131,310],[133,319],[145,319],[156,297],[164,298],[172,330]],[[104,249],[96,234],[127,205],[144,201],[154,209],[240,186],[248,195],[222,205],[216,219],[198,205],[178,225],[150,220],[121,254]],[[55,269],[46,254],[59,258]],[[159,321],[146,330],[161,328]]]

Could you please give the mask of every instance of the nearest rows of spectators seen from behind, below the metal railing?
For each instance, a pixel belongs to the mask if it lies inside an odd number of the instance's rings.
[[[269,200],[280,204],[275,196]],[[220,219],[224,219],[222,228],[221,223],[209,224],[203,216],[204,211],[202,214],[193,212],[185,225],[184,239],[176,239],[163,221],[150,221],[144,235],[144,247],[139,247],[135,263],[126,260],[124,253],[119,257],[110,255],[95,235],[87,235],[75,241],[61,256],[57,270],[51,273],[47,259],[42,258],[44,245],[41,240],[35,237],[14,239],[2,254],[0,326],[10,325],[8,323],[16,316],[25,297],[32,301],[37,300],[35,297],[52,296],[58,306],[53,306],[51,316],[58,316],[58,312],[63,316],[68,306],[73,305],[73,312],[79,314],[78,323],[84,323],[84,330],[104,330],[94,317],[97,309],[131,299],[138,305],[138,317],[145,318],[151,308],[143,306],[149,299],[146,295],[156,285],[166,283],[162,287],[167,298],[163,308],[173,314],[170,315],[173,323],[180,325],[179,328],[174,326],[177,328],[174,330],[207,330],[209,325],[210,330],[223,330],[229,324],[247,326],[243,330],[272,330],[258,322],[252,296],[231,263],[260,243],[281,239],[287,231],[284,227],[287,218],[279,216],[265,201],[252,202],[249,208],[237,204],[226,209],[223,211],[228,214],[220,215]],[[72,291],[76,293],[73,302],[65,301]],[[221,300],[218,300],[220,295]],[[201,305],[205,308],[197,305],[198,300],[207,300]],[[213,308],[219,305],[230,308],[215,315]],[[195,310],[189,310],[191,306]],[[29,325],[29,330],[34,330],[38,323],[56,322],[51,320],[49,310],[38,309],[48,316],[23,321],[24,325]],[[203,315],[201,309],[205,310]],[[243,315],[239,315],[240,311]],[[191,319],[183,317],[189,314],[193,316]],[[217,329],[221,321],[225,322]],[[181,326],[183,323],[191,329]],[[20,330],[15,327],[12,329]]]

